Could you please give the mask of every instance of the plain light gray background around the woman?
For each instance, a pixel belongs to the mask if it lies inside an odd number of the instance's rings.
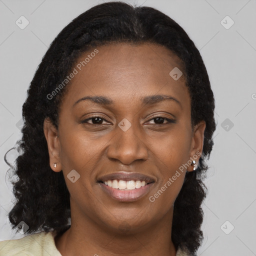
[[[6,217],[13,198],[3,155],[21,138],[18,127],[28,85],[58,32],[102,2],[0,0],[0,240],[23,236],[14,234]],[[155,7],[178,22],[200,50],[209,74],[217,128],[205,181],[204,241],[198,255],[256,255],[256,1],[126,2]],[[29,21],[24,29],[15,24],[21,15]],[[229,29],[220,22],[226,15],[234,21]],[[230,19],[222,22],[231,24]]]

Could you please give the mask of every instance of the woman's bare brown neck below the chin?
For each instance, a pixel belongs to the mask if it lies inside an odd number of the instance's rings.
[[[175,256],[171,241],[172,212],[173,208],[162,219],[139,231],[128,231],[125,225],[116,231],[84,218],[84,215],[75,218],[71,215],[70,228],[55,237],[55,244],[62,256]]]

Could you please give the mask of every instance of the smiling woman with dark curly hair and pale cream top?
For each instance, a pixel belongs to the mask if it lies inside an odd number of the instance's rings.
[[[175,21],[92,7],[54,39],[22,110],[9,219],[27,236],[0,255],[195,255],[214,97]]]

